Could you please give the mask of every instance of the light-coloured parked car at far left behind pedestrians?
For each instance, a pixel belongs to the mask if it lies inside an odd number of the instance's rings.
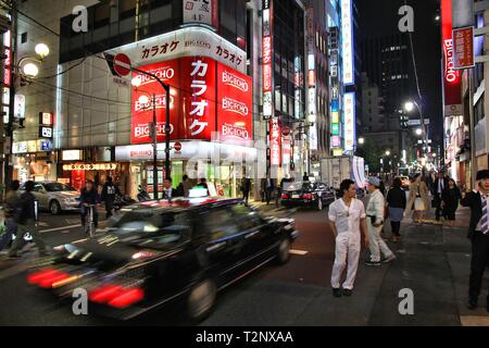
[[[24,186],[21,187],[21,192]],[[58,215],[63,211],[76,211],[79,209],[79,192],[76,188],[57,182],[35,182],[34,196],[39,202],[40,210],[49,210]]]

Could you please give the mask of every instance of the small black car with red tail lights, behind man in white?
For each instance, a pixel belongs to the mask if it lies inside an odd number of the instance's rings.
[[[280,202],[286,208],[305,206],[323,210],[335,198],[336,191],[323,183],[293,182],[284,183]]]

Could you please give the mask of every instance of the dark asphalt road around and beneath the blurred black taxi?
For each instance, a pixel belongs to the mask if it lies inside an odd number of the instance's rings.
[[[297,219],[301,235],[293,245],[290,262],[285,266],[266,265],[227,288],[221,294],[215,312],[204,325],[287,324],[285,313],[293,316],[293,313],[309,302],[311,294],[329,294],[334,256],[333,238],[326,221],[327,211],[301,210],[293,213],[293,217]],[[84,237],[77,214],[52,216],[42,213],[39,225],[42,238],[51,246]],[[180,315],[178,302],[124,323],[90,314],[74,315],[70,306],[57,303],[46,294],[26,285],[26,270],[36,253],[33,247],[27,247],[23,256],[22,260],[0,260],[0,325],[187,324]],[[291,300],[290,297],[296,299]],[[248,302],[250,300],[252,306]],[[276,308],[278,312],[267,312],[262,322],[256,322],[254,311],[262,311],[264,307]]]

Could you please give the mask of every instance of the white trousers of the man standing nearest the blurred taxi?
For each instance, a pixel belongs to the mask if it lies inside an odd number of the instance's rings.
[[[343,289],[353,289],[360,257],[360,233],[343,232],[336,237],[335,264],[333,265],[331,286],[340,287],[341,275],[347,266],[347,278],[342,285]]]

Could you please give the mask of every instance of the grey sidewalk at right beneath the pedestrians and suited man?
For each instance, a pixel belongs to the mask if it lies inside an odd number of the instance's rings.
[[[396,260],[383,281],[369,324],[372,325],[489,325],[486,275],[479,307],[465,307],[471,270],[471,243],[466,238],[469,210],[461,208],[455,227],[443,227],[430,211],[423,225],[404,221],[403,241],[393,245]],[[386,228],[390,235],[390,227]],[[392,316],[388,309],[399,303],[392,289],[411,288],[414,291],[415,315]]]

